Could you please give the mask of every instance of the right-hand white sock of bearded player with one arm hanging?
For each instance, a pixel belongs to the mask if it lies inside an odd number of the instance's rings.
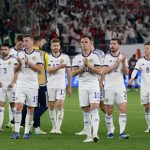
[[[57,112],[57,119],[56,119],[56,130],[60,130],[62,121],[64,118],[64,109],[58,110]]]

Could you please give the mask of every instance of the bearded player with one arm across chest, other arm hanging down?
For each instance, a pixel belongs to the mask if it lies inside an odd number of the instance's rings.
[[[66,95],[66,79],[68,81],[68,96],[71,96],[71,65],[68,55],[61,52],[60,40],[54,38],[51,40],[51,54],[48,58],[48,104],[49,115],[52,122],[50,133],[62,134],[60,128],[64,117],[64,100]],[[56,112],[57,109],[57,112]]]

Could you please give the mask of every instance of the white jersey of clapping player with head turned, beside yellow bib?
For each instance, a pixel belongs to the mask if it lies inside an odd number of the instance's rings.
[[[25,63],[25,55],[28,57],[32,64],[42,64],[41,56],[38,51],[33,50],[30,54],[26,53],[26,50],[20,51],[18,57],[22,60],[21,71],[18,75],[17,87],[19,88],[38,88],[38,72],[33,71]]]

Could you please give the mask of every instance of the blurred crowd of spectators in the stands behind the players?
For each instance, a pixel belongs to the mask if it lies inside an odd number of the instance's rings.
[[[16,8],[24,8],[24,12],[16,13]],[[13,44],[15,33],[40,34],[46,39],[59,37],[63,45],[76,50],[85,33],[103,50],[113,37],[123,44],[143,43],[150,37],[149,8],[148,0],[5,0],[0,38],[10,37]]]

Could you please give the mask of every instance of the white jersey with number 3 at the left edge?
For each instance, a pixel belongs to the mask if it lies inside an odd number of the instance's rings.
[[[17,65],[16,58],[10,57],[8,59],[0,59],[0,82],[3,89],[7,89],[8,85],[14,78],[14,68]]]

